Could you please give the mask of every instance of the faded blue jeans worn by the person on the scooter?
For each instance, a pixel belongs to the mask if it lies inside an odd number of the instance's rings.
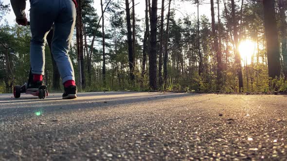
[[[33,74],[44,75],[46,37],[54,23],[52,54],[62,82],[75,80],[68,55],[75,26],[76,9],[72,0],[30,0],[32,32],[30,62]]]

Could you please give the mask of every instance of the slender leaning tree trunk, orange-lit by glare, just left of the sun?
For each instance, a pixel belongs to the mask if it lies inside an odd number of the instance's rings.
[[[243,78],[242,78],[242,69],[241,69],[241,58],[238,52],[238,29],[237,29],[237,21],[235,17],[235,4],[234,0],[231,0],[231,8],[232,8],[232,19],[233,19],[233,37],[234,37],[234,44],[235,44],[235,65],[236,65],[236,72],[238,75],[239,81],[239,92],[243,90]]]

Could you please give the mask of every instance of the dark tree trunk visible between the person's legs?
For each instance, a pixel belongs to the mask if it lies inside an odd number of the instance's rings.
[[[52,27],[52,29],[47,35],[47,42],[48,42],[48,46],[51,51],[51,58],[52,58],[52,65],[53,65],[53,81],[52,81],[53,87],[52,88],[54,90],[58,90],[60,89],[60,73],[59,73],[58,66],[54,60],[54,56],[51,50],[53,35],[54,35],[54,26]]]

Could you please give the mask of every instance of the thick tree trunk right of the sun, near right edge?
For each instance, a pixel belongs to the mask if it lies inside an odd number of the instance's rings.
[[[268,74],[274,79],[281,73],[280,50],[275,16],[275,0],[263,0],[264,27],[267,41]]]

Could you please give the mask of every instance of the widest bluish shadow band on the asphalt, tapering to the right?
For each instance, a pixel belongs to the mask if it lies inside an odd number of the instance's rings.
[[[127,93],[126,93],[127,94]],[[129,97],[108,97],[108,98],[97,98],[97,99],[75,99],[75,100],[61,100],[55,102],[56,99],[45,99],[45,100],[32,100],[32,105],[26,105],[21,107],[21,104],[17,105],[17,102],[13,101],[12,105],[1,105],[0,106],[0,121],[5,120],[4,118],[9,118],[10,116],[17,115],[16,120],[21,120],[21,117],[24,118],[27,115],[34,115],[34,112],[41,110],[45,115],[65,112],[71,113],[79,109],[93,109],[100,110],[105,107],[117,108],[117,105],[132,104],[132,103],[144,103],[146,101],[159,101],[163,99],[170,98],[180,98],[180,97],[195,97],[195,96],[204,96],[205,94],[158,94],[158,95],[146,95],[146,96],[129,96]],[[89,95],[90,97],[94,95]],[[80,96],[83,97],[83,96]],[[51,102],[52,100],[52,102]],[[25,100],[30,102],[31,100]],[[37,106],[38,101],[40,104]],[[49,101],[49,104],[48,102]],[[28,103],[27,102],[27,103]],[[51,103],[50,103],[51,102]],[[6,102],[8,103],[8,102]],[[10,103],[10,102],[9,102]],[[57,104],[58,103],[58,104]],[[66,103],[66,104],[65,104]],[[10,107],[8,107],[10,106]],[[12,107],[11,107],[12,106]],[[15,120],[15,119],[14,119]]]

